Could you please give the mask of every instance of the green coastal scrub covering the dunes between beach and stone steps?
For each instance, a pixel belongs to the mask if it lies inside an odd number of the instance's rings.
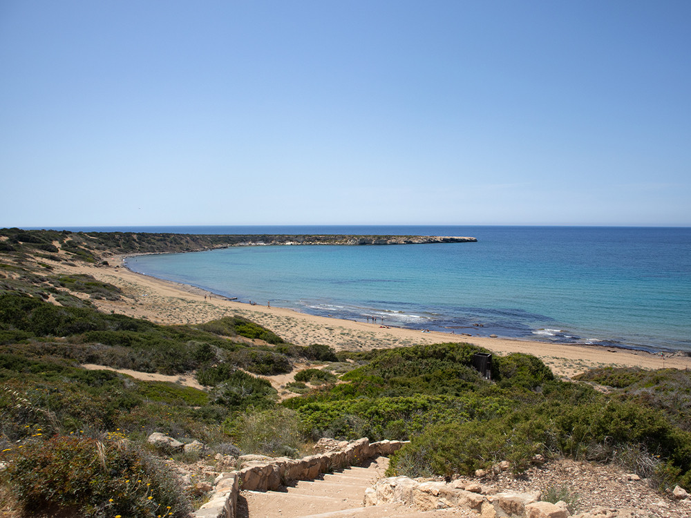
[[[558,457],[627,466],[659,488],[691,489],[691,373],[598,368],[562,381],[529,354],[440,343],[363,352],[287,343],[246,318],[159,325],[104,313],[122,291],[59,273],[107,252],[192,249],[194,236],[0,231],[0,506],[24,515],[184,517],[196,496],[176,467],[244,453],[296,456],[320,437],[407,439],[390,474],[451,477]],[[204,237],[204,236],[202,236]],[[55,250],[51,247],[54,247]],[[135,250],[136,249],[136,250]],[[84,364],[168,376],[142,381]],[[279,401],[262,376],[307,364]],[[286,388],[290,389],[290,385]],[[292,390],[292,389],[291,389]],[[301,393],[301,394],[300,394]],[[162,432],[207,445],[161,452]]]

